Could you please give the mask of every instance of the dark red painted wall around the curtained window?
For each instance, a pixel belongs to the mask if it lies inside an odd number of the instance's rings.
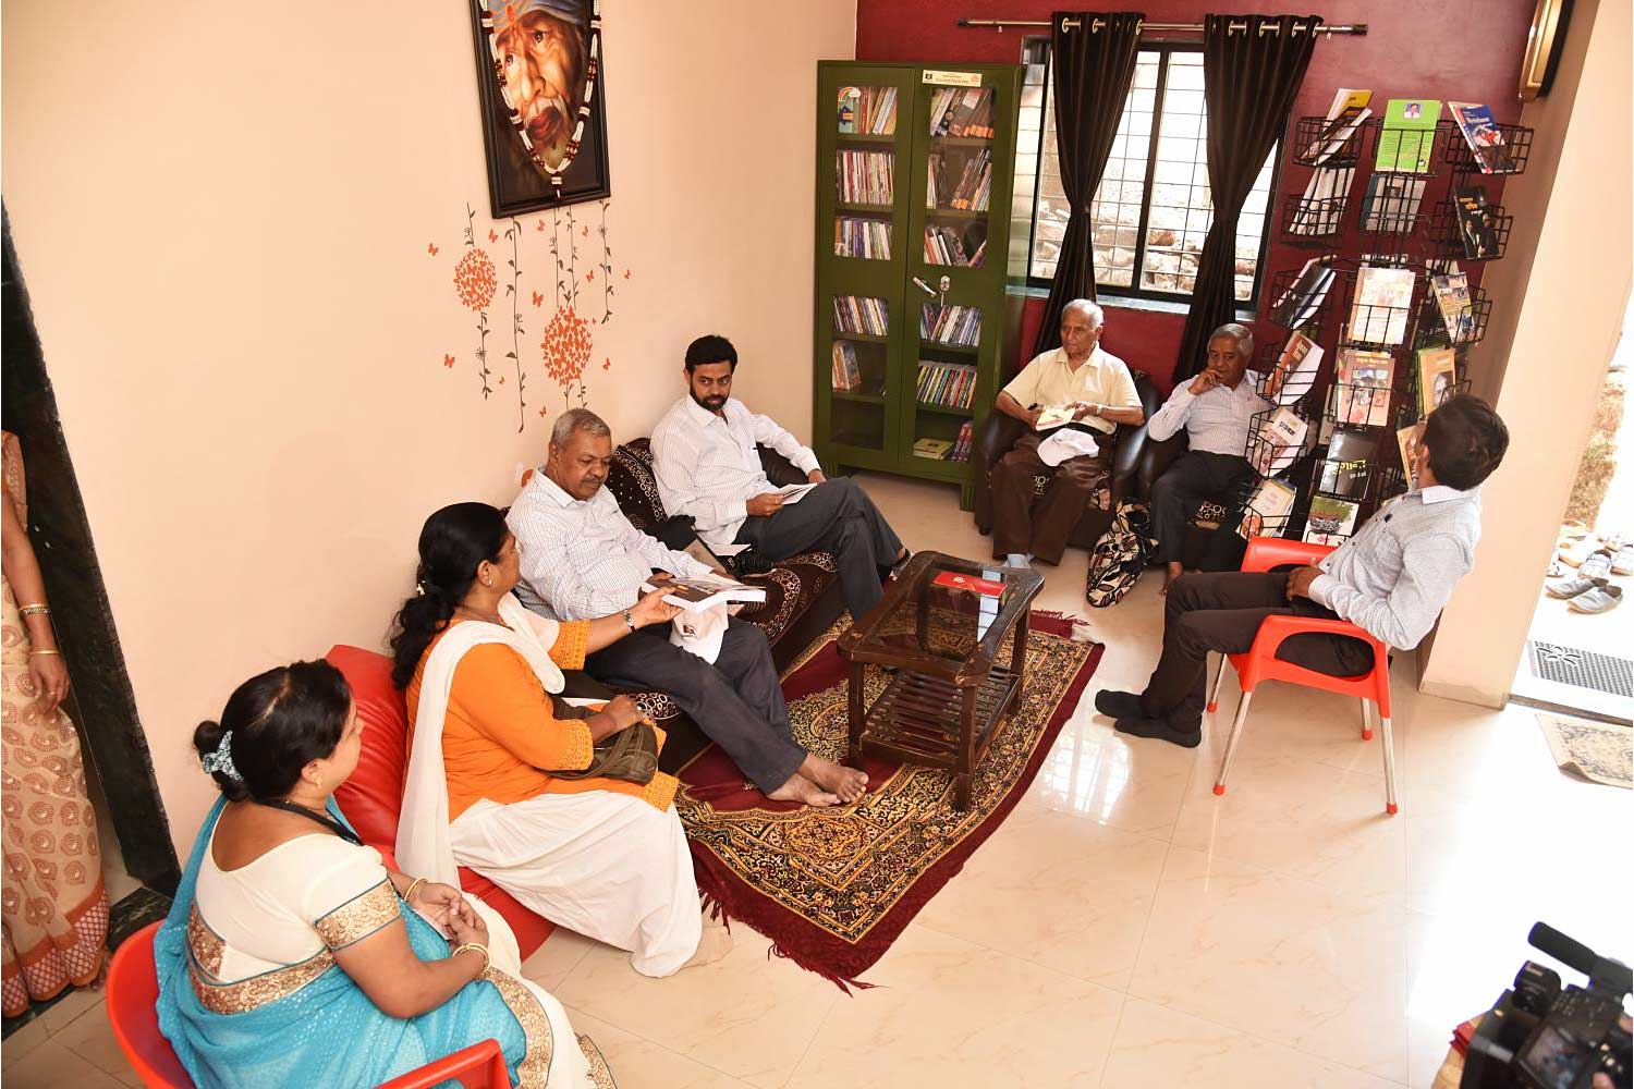
[[[858,0],[858,60],[925,60],[925,62],[1010,62],[1021,59],[1021,31],[962,29],[961,16],[975,20],[1044,20],[1059,10],[1059,0]],[[1521,52],[1536,0],[1345,0],[1330,11],[1315,11],[1333,23],[1366,23],[1361,38],[1325,38],[1317,42],[1306,83],[1294,103],[1294,116],[1325,113],[1337,87],[1366,87],[1374,103],[1389,98],[1440,98],[1443,101],[1476,101],[1492,106],[1500,122],[1520,119]],[[1150,0],[1132,3],[1149,21],[1201,23],[1211,5],[1185,0]],[[1286,3],[1235,0],[1232,13],[1310,13]],[[1049,28],[1026,33],[1047,34]],[[1381,109],[1382,113],[1382,109]],[[1443,111],[1443,118],[1446,113]],[[1289,191],[1302,193],[1309,171],[1284,170],[1283,184],[1273,198],[1281,209]],[[1359,183],[1358,183],[1359,188]],[[1433,188],[1431,188],[1433,191]],[[1487,186],[1498,199],[1498,186]],[[1271,229],[1268,225],[1268,229]],[[1279,245],[1273,237],[1266,251],[1266,271],[1299,268],[1309,250]],[[1471,266],[1474,269],[1474,266]],[[1265,278],[1266,282],[1270,276]],[[1472,276],[1479,282],[1479,278]],[[1132,367],[1170,387],[1170,372],[1180,351],[1185,317],[1152,310],[1116,307],[1105,297],[1106,351],[1121,356]],[[1023,318],[1023,354],[1033,346],[1042,300],[1028,300]],[[1257,325],[1265,336],[1281,341],[1279,328]],[[1015,364],[1011,364],[1015,366]]]

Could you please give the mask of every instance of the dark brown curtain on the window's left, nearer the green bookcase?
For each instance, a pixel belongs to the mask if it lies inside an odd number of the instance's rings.
[[[1060,188],[1067,193],[1072,216],[1060,240],[1034,354],[1060,346],[1060,310],[1069,302],[1095,297],[1090,201],[1101,184],[1113,137],[1118,136],[1144,18],[1139,11],[1056,11],[1051,16],[1056,145],[1060,152]],[[1070,28],[1064,26],[1067,21]]]

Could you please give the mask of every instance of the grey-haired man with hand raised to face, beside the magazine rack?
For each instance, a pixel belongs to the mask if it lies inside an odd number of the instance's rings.
[[[1253,477],[1245,447],[1255,413],[1273,408],[1258,393],[1253,331],[1229,322],[1209,336],[1209,361],[1203,372],[1181,382],[1152,413],[1147,438],[1163,441],[1186,429],[1186,452],[1152,485],[1152,534],[1157,558],[1167,567],[1163,593],[1181,575],[1180,545],[1186,519],[1204,500],[1226,500]],[[1227,503],[1229,504],[1229,503]]]

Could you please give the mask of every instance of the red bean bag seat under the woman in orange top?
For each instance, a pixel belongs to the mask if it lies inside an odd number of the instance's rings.
[[[392,856],[397,849],[397,818],[402,813],[404,776],[408,771],[408,709],[402,692],[392,686],[392,660],[358,647],[333,647],[324,658],[345,674],[363,720],[358,769],[335,792],[335,802],[363,842],[376,847],[386,864],[395,869]],[[516,932],[523,960],[556,929],[474,870],[459,867],[459,887],[505,916]]]

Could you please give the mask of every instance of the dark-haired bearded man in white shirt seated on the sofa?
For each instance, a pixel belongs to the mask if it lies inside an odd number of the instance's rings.
[[[907,549],[855,480],[827,480],[817,456],[770,416],[732,397],[737,349],[725,336],[686,348],[686,397],[652,429],[652,470],[670,514],[690,514],[712,545],[753,545],[768,560],[830,552],[845,604],[859,620],[879,604],[881,578]],[[771,487],[757,444],[766,444],[817,485],[797,503]]]

